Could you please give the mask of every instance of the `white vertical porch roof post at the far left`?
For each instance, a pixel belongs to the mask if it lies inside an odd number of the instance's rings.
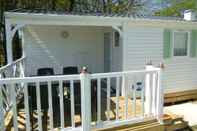
[[[12,63],[13,53],[12,53],[12,32],[11,23],[9,20],[5,20],[6,28],[6,53],[7,53],[7,64]]]

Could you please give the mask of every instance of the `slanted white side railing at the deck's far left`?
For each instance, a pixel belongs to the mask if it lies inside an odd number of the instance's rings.
[[[16,78],[20,77],[23,78],[25,77],[24,73],[24,61],[25,57],[22,57],[16,61],[14,61],[11,64],[7,64],[3,67],[0,68],[0,79],[4,78]],[[22,92],[23,86],[18,84],[15,86],[15,91],[17,94],[17,100],[20,99],[21,97],[21,92]],[[10,94],[10,87],[6,85],[2,85],[2,99],[3,99],[3,111],[4,114],[7,113],[11,106],[12,106],[12,101],[11,101],[11,94]]]

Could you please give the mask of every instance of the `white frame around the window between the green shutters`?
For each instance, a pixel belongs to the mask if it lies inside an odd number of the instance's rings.
[[[187,55],[185,56],[175,56],[174,55],[174,47],[175,47],[175,33],[178,33],[178,32],[184,32],[184,33],[187,33],[188,34],[188,40],[187,40]],[[183,57],[189,57],[189,54],[190,54],[190,34],[191,32],[190,31],[187,31],[187,30],[174,30],[172,32],[172,57],[175,57],[175,58],[183,58]]]

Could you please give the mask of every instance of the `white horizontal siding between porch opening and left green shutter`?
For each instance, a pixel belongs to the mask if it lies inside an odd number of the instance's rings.
[[[124,70],[145,68],[151,60],[159,64],[163,56],[162,29],[128,27],[124,40]]]

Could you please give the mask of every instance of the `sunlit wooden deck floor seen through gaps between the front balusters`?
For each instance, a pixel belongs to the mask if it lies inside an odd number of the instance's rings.
[[[101,120],[105,121],[107,120],[107,99],[106,97],[101,98],[102,104],[101,104]],[[119,99],[119,119],[125,119],[125,99],[123,97],[120,97]],[[114,120],[116,118],[116,98],[111,97],[110,101],[110,120]],[[80,105],[75,106],[75,124],[76,126],[81,125],[81,113],[80,110],[78,110]],[[65,107],[65,127],[71,126],[71,116],[70,116],[70,109],[66,107],[70,107],[70,105],[67,103],[64,105]],[[136,113],[133,110],[133,100],[128,99],[128,117],[132,116],[138,116],[141,115],[142,110],[141,110],[141,100],[137,99],[136,100]],[[96,104],[92,105],[92,122],[95,123],[97,120],[97,111],[96,111]],[[31,118],[31,122],[33,123],[33,130],[36,130],[37,128],[37,113],[36,111],[33,112],[33,118]],[[23,105],[18,106],[18,127],[19,130],[23,131],[25,130],[25,112]],[[5,120],[5,126],[8,131],[13,130],[13,125],[12,125],[12,112],[9,112],[6,120]],[[54,127],[56,130],[58,130],[57,127],[60,127],[60,111],[59,108],[54,109]],[[47,121],[43,121],[43,130],[49,129],[49,118],[47,118]]]

